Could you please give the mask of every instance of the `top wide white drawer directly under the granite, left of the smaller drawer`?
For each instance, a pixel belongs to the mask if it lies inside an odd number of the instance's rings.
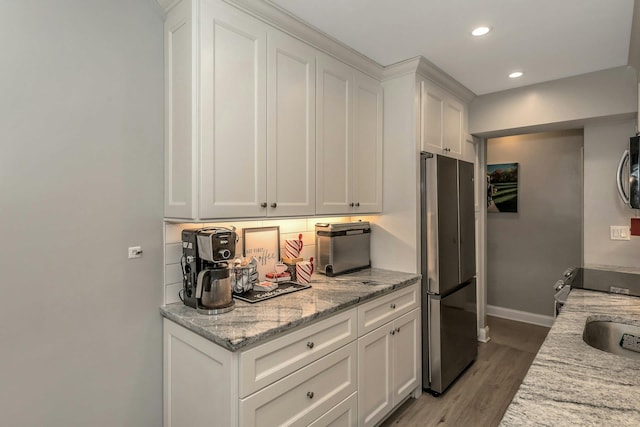
[[[355,340],[356,317],[354,308],[240,353],[240,397]]]

